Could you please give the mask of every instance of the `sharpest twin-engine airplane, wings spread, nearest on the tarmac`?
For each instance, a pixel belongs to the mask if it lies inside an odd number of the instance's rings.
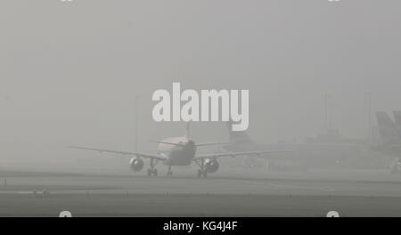
[[[146,153],[139,151],[121,151],[121,150],[102,150],[94,148],[86,148],[79,146],[70,146],[79,150],[94,150],[99,152],[121,154],[123,156],[134,156],[130,159],[129,165],[134,172],[140,172],[143,169],[143,158],[150,159],[150,168],[148,176],[157,176],[158,171],[155,166],[162,162],[168,166],[168,177],[173,176],[172,166],[190,166],[195,163],[200,167],[198,177],[207,177],[208,173],[215,173],[219,168],[217,158],[236,157],[241,155],[261,155],[274,153],[282,150],[259,150],[259,151],[242,151],[242,152],[225,152],[211,154],[197,154],[197,148],[201,146],[218,145],[225,142],[205,142],[195,143],[189,135],[190,123],[187,123],[184,136],[168,138],[163,141],[151,141],[159,143],[157,153]]]

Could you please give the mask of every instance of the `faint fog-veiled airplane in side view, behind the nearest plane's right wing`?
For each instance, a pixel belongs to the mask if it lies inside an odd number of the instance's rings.
[[[348,142],[278,142],[278,143],[259,143],[251,139],[246,131],[233,132],[232,121],[226,122],[229,134],[229,144],[223,145],[225,150],[241,152],[248,150],[291,150],[285,156],[269,156],[263,158],[267,160],[270,168],[282,170],[288,166],[307,170],[314,166],[336,165],[346,157],[360,150],[360,143]],[[244,165],[256,166],[259,156],[245,156]],[[253,163],[252,163],[253,162]]]

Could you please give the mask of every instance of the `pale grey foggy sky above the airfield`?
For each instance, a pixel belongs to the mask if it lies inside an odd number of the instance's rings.
[[[372,110],[401,109],[397,1],[3,1],[0,4],[0,161],[85,157],[65,146],[141,150],[184,133],[155,123],[151,94],[249,89],[257,141],[323,132],[364,137]],[[223,123],[195,125],[198,141],[226,141]],[[77,156],[77,157],[76,157]],[[113,160],[111,158],[111,160]]]

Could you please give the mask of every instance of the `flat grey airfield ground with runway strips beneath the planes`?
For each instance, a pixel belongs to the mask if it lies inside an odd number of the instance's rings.
[[[386,171],[9,175],[0,186],[1,216],[401,215],[401,177]]]

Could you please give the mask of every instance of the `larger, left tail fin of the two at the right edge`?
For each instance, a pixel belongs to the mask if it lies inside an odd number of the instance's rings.
[[[381,143],[384,145],[400,144],[401,139],[397,131],[397,125],[389,118],[389,114],[386,112],[377,112],[376,118],[379,124]]]

